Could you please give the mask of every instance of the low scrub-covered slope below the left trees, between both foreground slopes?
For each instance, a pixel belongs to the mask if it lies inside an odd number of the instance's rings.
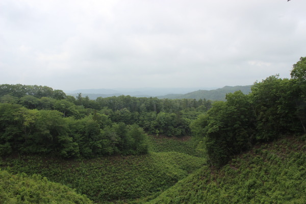
[[[90,160],[61,160],[41,156],[0,159],[3,169],[7,168],[13,173],[39,173],[49,181],[77,189],[97,203],[116,200],[143,203],[144,199],[156,197],[204,163],[202,158],[178,152],[152,152],[142,156]]]

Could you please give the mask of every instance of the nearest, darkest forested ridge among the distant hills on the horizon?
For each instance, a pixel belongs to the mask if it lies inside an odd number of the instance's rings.
[[[224,86],[220,89],[214,90],[198,90],[186,94],[168,94],[164,96],[158,96],[158,98],[169,99],[182,99],[182,98],[194,98],[194,99],[207,99],[207,100],[225,100],[226,93],[234,93],[235,91],[242,91],[244,94],[251,92],[251,86]]]

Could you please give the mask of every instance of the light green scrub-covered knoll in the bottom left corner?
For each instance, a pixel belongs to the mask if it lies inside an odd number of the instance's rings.
[[[40,175],[11,174],[0,170],[0,203],[93,203],[86,196]]]

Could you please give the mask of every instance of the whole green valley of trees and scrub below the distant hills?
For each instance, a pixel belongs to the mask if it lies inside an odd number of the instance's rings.
[[[225,101],[0,85],[2,203],[305,203],[306,57]]]

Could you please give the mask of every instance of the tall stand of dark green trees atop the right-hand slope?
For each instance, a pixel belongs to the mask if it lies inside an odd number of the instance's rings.
[[[221,166],[252,144],[281,135],[306,133],[304,97],[306,60],[293,65],[292,79],[272,75],[251,87],[252,92],[228,93],[191,124],[211,165]]]

